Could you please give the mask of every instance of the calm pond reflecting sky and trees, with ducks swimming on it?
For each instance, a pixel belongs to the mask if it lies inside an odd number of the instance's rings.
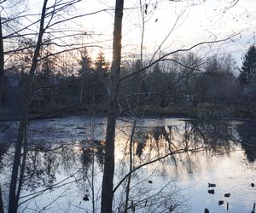
[[[19,212],[100,211],[106,123],[107,118],[68,117],[29,124]],[[0,124],[5,206],[17,126]],[[131,120],[118,120],[114,187],[129,172],[131,128]],[[132,173],[129,212],[131,206],[135,212],[252,212],[255,130],[253,121],[137,120],[132,168],[145,165]],[[116,188],[114,212],[124,210],[126,186],[127,180]]]

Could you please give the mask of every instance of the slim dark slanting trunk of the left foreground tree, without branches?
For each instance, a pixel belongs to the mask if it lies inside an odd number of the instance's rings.
[[[24,134],[26,131],[28,109],[29,109],[29,105],[30,105],[30,101],[31,101],[30,97],[32,96],[33,77],[34,77],[34,73],[37,68],[38,56],[39,56],[39,52],[40,52],[40,48],[41,48],[42,38],[44,35],[44,18],[45,18],[47,2],[48,2],[48,0],[44,0],[44,6],[42,9],[41,20],[40,20],[40,29],[39,29],[39,34],[38,34],[38,42],[37,42],[36,49],[35,49],[35,52],[34,52],[34,55],[32,58],[32,66],[30,68],[29,75],[28,75],[25,106],[24,106],[24,109],[22,112],[22,117],[20,119],[19,132],[18,132],[17,142],[16,142],[16,146],[15,146],[15,158],[14,158],[12,176],[11,176],[10,187],[9,187],[9,213],[16,213],[17,209],[18,209],[19,197],[17,196],[18,194],[16,192],[16,189],[17,189],[17,181],[18,181],[18,176],[19,176],[21,150],[22,150],[22,147],[26,146],[23,143]],[[21,180],[22,180],[22,178],[21,178]],[[21,187],[21,185],[20,185],[20,187]]]

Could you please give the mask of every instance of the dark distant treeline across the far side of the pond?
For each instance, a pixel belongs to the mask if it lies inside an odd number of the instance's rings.
[[[140,69],[150,61],[126,60],[121,72],[119,114],[132,114],[138,105],[139,116],[252,118],[256,107],[255,55],[252,46],[241,68],[230,55],[204,59],[192,53],[174,55],[143,72]],[[21,111],[27,79],[24,60],[28,57],[26,53],[16,59],[19,66],[5,72],[2,115],[19,115]],[[77,66],[68,70],[56,56],[39,62],[30,97],[32,114],[108,112],[110,66],[104,54],[99,52],[93,61],[83,49],[76,61]]]

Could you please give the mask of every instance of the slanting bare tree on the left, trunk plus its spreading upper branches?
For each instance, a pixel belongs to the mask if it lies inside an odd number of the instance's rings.
[[[79,3],[79,0],[67,0],[67,1],[55,1],[52,5],[47,7],[48,0],[44,0],[44,5],[42,8],[41,16],[40,19],[32,21],[31,24],[22,27],[21,29],[15,31],[15,32],[10,32],[8,35],[5,36],[5,39],[9,39],[12,37],[22,37],[22,36],[37,36],[37,42],[34,47],[34,52],[32,54],[32,65],[29,68],[28,72],[28,77],[26,79],[26,91],[25,91],[25,97],[23,100],[23,108],[22,108],[22,114],[20,118],[20,125],[19,125],[19,130],[18,130],[18,136],[17,136],[17,141],[15,144],[15,157],[14,157],[14,164],[13,164],[13,170],[12,170],[12,176],[11,176],[11,181],[10,181],[10,187],[9,187],[9,212],[16,212],[18,208],[18,203],[19,203],[19,197],[20,197],[20,190],[22,187],[22,181],[23,181],[23,173],[24,173],[24,168],[26,164],[26,126],[29,121],[32,119],[29,118],[29,109],[31,106],[31,103],[33,101],[33,97],[37,95],[37,93],[33,90],[33,83],[34,83],[34,76],[35,72],[38,66],[38,62],[42,61],[49,56],[54,56],[54,55],[60,55],[61,53],[67,52],[67,51],[72,51],[75,49],[81,49],[84,46],[83,45],[75,45],[75,44],[63,44],[60,45],[59,43],[51,43],[55,44],[57,46],[60,46],[62,48],[67,48],[67,49],[61,49],[58,52],[55,53],[49,53],[48,55],[40,55],[40,50],[43,48],[44,45],[49,45],[49,43],[43,43],[43,36],[44,34],[52,34],[55,32],[54,26],[61,25],[62,23],[68,21],[68,20],[73,20],[79,17],[83,17],[85,15],[89,14],[80,14],[80,15],[75,15],[69,19],[63,18],[62,20],[60,19],[54,19],[55,16],[58,16],[61,11],[64,11],[68,7],[72,6],[74,3]],[[99,10],[91,14],[96,14],[96,13],[101,13],[104,10]],[[23,16],[22,16],[23,17]],[[16,19],[19,19],[20,17],[16,17]],[[47,23],[46,23],[47,21]],[[29,27],[36,25],[39,22],[39,31],[38,32],[33,32],[28,30]],[[28,32],[26,32],[28,31]],[[61,41],[61,38],[65,38],[66,36],[60,36],[62,31],[57,31],[55,39],[59,38],[59,41]],[[52,39],[51,41],[53,41]],[[71,47],[71,48],[70,48]],[[18,47],[18,49],[11,49],[9,51],[6,51],[4,54],[15,54],[16,52],[22,51],[24,49],[28,49],[32,47]],[[22,152],[23,151],[23,152]]]

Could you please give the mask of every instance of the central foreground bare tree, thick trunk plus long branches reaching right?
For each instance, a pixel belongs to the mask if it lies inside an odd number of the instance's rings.
[[[107,135],[106,135],[106,158],[105,158],[105,163],[104,163],[104,173],[103,173],[103,180],[102,180],[102,212],[111,212],[112,211],[113,172],[114,172],[114,136],[115,136],[115,124],[116,124],[116,119],[118,116],[117,111],[119,109],[119,106],[117,104],[117,96],[119,93],[119,82],[121,82],[127,78],[131,78],[132,76],[134,76],[136,74],[140,74],[141,72],[145,72],[149,67],[154,66],[158,62],[165,61],[165,60],[173,61],[173,62],[177,63],[178,65],[182,66],[184,69],[189,70],[189,72],[186,72],[185,74],[181,75],[171,85],[167,85],[165,88],[160,89],[160,91],[156,92],[154,95],[151,95],[146,100],[137,101],[136,104],[124,109],[123,112],[134,109],[137,106],[140,106],[147,101],[152,101],[155,97],[161,95],[164,91],[166,91],[166,89],[170,89],[175,83],[178,83],[181,80],[183,80],[183,78],[188,77],[188,75],[191,74],[193,71],[195,71],[197,69],[197,67],[199,66],[199,65],[195,65],[195,64],[193,64],[192,66],[187,66],[187,65],[183,64],[182,61],[174,60],[174,59],[170,58],[170,56],[172,56],[176,53],[179,53],[179,52],[188,52],[189,50],[195,49],[196,47],[199,47],[204,44],[220,43],[220,42],[224,42],[224,41],[227,41],[230,39],[230,37],[226,37],[224,39],[219,39],[219,40],[216,39],[213,41],[195,43],[195,45],[192,45],[190,48],[186,48],[186,49],[177,49],[175,51],[166,53],[164,55],[160,55],[160,57],[157,60],[150,61],[148,66],[141,67],[139,70],[132,72],[131,74],[128,74],[123,78],[119,78],[120,54],[121,54],[122,12],[123,12],[123,1],[117,0],[116,8],[115,8],[115,16],[114,16],[113,62],[112,62],[111,79],[110,79],[111,87],[110,87],[110,92],[109,92],[110,100],[109,100],[108,125],[107,125]],[[234,37],[234,35],[232,35],[231,37]],[[141,42],[141,46],[143,46],[143,41]],[[139,93],[140,93],[140,90],[139,90]],[[132,137],[131,137],[131,141],[132,141]],[[130,147],[130,151],[131,151],[131,147]],[[178,151],[178,152],[180,152],[180,151]],[[172,154],[173,154],[172,152],[168,153],[167,156],[172,155]],[[163,157],[163,158],[165,158],[165,157]],[[151,163],[148,162],[148,164],[151,164]],[[140,168],[140,166],[139,166],[139,168]],[[134,169],[134,170],[137,170],[137,169]],[[125,176],[125,179],[129,178],[129,177],[131,178],[131,173],[134,170],[131,170],[131,172]]]

